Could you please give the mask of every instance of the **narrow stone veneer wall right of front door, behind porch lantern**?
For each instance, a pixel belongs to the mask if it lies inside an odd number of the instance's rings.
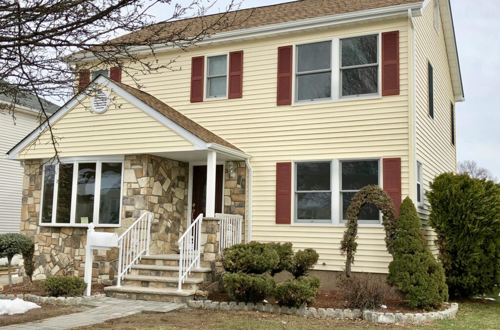
[[[224,165],[224,213],[243,216],[241,235],[244,240],[246,227],[246,165],[244,161],[233,161],[234,178],[228,172],[228,163]]]

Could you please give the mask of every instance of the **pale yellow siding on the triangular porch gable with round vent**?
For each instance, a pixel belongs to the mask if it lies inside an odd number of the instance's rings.
[[[190,142],[126,100],[115,94],[111,99],[109,109],[96,114],[86,98],[52,125],[59,157],[194,150]],[[19,159],[53,155],[50,134],[45,131],[19,153]]]

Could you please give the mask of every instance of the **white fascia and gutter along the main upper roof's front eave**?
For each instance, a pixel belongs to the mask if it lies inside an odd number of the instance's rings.
[[[374,20],[381,18],[388,18],[392,16],[403,16],[406,17],[408,10],[412,11],[413,17],[421,16],[422,2],[406,5],[391,6],[385,8],[376,8],[366,11],[359,11],[353,13],[345,13],[338,15],[323,16],[313,19],[298,20],[292,22],[285,22],[279,24],[265,25],[261,27],[254,27],[249,29],[241,29],[236,31],[228,31],[216,33],[211,36],[205,37],[203,40],[196,43],[196,46],[202,46],[206,44],[229,42],[244,39],[261,38],[270,35],[284,34],[290,32],[298,32],[309,29],[318,29],[332,27],[347,23],[355,23],[366,20]],[[183,45],[186,46],[186,45]],[[131,54],[142,54],[162,51],[172,51],[178,50],[180,47],[175,43],[164,43],[156,44],[151,46],[135,46],[130,47],[129,53]],[[116,54],[114,54],[116,56]],[[94,61],[96,58],[92,54],[77,54],[73,55],[73,59],[77,61],[90,62]]]

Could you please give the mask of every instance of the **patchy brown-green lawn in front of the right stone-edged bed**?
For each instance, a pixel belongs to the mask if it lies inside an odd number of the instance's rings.
[[[377,325],[362,320],[317,319],[296,315],[281,315],[248,311],[179,309],[164,314],[137,314],[79,329],[500,329],[500,297],[498,291],[484,297],[496,301],[463,300],[458,302],[456,319],[414,325]]]

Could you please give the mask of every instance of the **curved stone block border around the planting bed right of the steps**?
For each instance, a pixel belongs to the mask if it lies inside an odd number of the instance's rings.
[[[188,307],[204,308],[204,309],[220,309],[220,310],[256,310],[268,313],[281,314],[296,314],[300,316],[311,316],[319,318],[337,318],[351,319],[361,318],[371,323],[420,323],[431,322],[439,319],[455,318],[458,311],[458,304],[451,303],[450,306],[443,311],[429,313],[383,313],[376,311],[359,309],[333,309],[333,308],[314,308],[314,307],[286,307],[278,304],[270,303],[253,303],[253,302],[218,302],[211,300],[189,300]]]

